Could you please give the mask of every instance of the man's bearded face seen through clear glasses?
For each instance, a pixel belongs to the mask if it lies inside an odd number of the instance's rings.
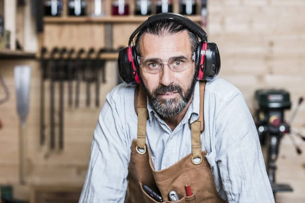
[[[179,114],[189,103],[196,84],[195,62],[192,60],[188,32],[165,36],[145,33],[141,39],[140,51],[140,75],[151,106],[163,118]],[[156,67],[160,61],[165,65],[161,72],[151,73],[143,68],[144,61],[146,67],[149,65],[151,68]],[[188,68],[173,72],[166,65],[168,63],[177,66],[184,63],[188,64]]]

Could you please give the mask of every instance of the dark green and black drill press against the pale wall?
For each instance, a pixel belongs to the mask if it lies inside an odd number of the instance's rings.
[[[291,192],[293,189],[290,185],[276,183],[276,160],[278,158],[280,141],[285,134],[288,134],[290,139],[292,139],[297,153],[301,154],[300,148],[296,146],[293,137],[290,135],[290,124],[303,98],[299,98],[298,106],[288,123],[284,121],[284,112],[291,108],[289,92],[282,89],[259,89],[255,91],[255,101],[256,111],[254,121],[261,145],[268,147],[266,167],[273,195],[277,192]],[[305,140],[301,134],[297,132],[296,134]]]

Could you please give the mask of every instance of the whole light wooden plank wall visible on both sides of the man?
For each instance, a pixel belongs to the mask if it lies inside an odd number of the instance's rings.
[[[1,1],[0,1],[1,2]],[[305,2],[303,0],[210,0],[208,1],[209,41],[217,43],[222,69],[220,77],[236,85],[246,98],[253,111],[253,95],[257,88],[285,88],[291,93],[295,108],[299,96],[305,96]],[[88,35],[86,26],[72,24],[53,29],[46,26],[44,43],[52,48],[56,45],[69,46],[73,42],[76,48],[84,44],[88,47],[105,45],[103,25],[90,26]],[[64,30],[70,32],[69,40]],[[126,46],[130,33],[136,28],[132,25],[116,24],[113,27],[113,48]],[[52,31],[51,31],[52,30]],[[71,37],[72,36],[72,37]],[[89,37],[86,37],[89,36]],[[81,38],[81,40],[77,40]],[[77,43],[76,43],[77,41]],[[93,131],[100,109],[87,109],[84,106],[85,95],[82,86],[80,109],[65,110],[65,151],[49,152],[39,146],[40,124],[40,69],[32,60],[1,60],[0,75],[9,86],[10,101],[0,106],[0,119],[4,126],[0,129],[0,184],[13,184],[17,197],[26,199],[28,187],[18,185],[18,117],[13,67],[16,64],[29,64],[33,68],[31,86],[31,106],[28,115],[28,181],[30,184],[83,184],[90,153]],[[101,99],[116,85],[115,62],[107,65],[107,84],[102,85]],[[112,78],[113,80],[110,80]],[[48,85],[47,85],[48,86]],[[48,87],[47,87],[48,88]],[[67,92],[67,89],[65,90]],[[46,91],[46,100],[49,93]],[[0,97],[4,95],[0,88]],[[65,98],[67,104],[67,98]],[[287,112],[287,119],[291,111]],[[48,117],[48,116],[47,116]],[[48,121],[47,121],[48,122]],[[300,107],[293,127],[305,133],[305,105]],[[47,126],[47,132],[48,132]],[[296,142],[305,150],[299,139]],[[282,202],[303,202],[301,191],[305,185],[303,171],[304,155],[297,156],[291,141],[285,137],[282,141],[279,157],[279,180],[291,183],[294,193],[283,193]],[[289,166],[289,167],[288,167]]]

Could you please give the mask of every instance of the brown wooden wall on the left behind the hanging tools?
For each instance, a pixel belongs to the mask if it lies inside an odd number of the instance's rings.
[[[14,66],[26,64],[32,67],[31,97],[29,114],[27,117],[27,186],[20,186],[18,181],[18,142],[19,142],[19,119],[16,111],[16,96],[14,86]],[[106,93],[117,84],[117,72],[115,62],[107,62],[107,83],[101,84],[101,104],[106,99]],[[3,76],[9,91],[10,100],[0,106],[0,119],[3,127],[0,129],[0,184],[12,184],[15,186],[15,195],[21,199],[28,198],[29,185],[74,185],[81,186],[84,181],[87,163],[89,159],[90,146],[93,138],[94,128],[97,123],[100,108],[92,105],[85,107],[85,83],[80,87],[79,109],[68,107],[68,85],[65,85],[65,137],[63,152],[50,151],[48,146],[40,147],[40,74],[39,62],[35,60],[0,60],[0,75]],[[91,95],[95,96],[95,87],[91,85]],[[49,82],[46,82],[46,109],[49,108],[50,94]],[[56,128],[58,130],[58,85],[55,85],[56,101]],[[3,98],[5,92],[0,88],[0,96]],[[92,101],[94,103],[94,98]],[[49,138],[49,111],[45,112],[46,137]],[[56,138],[57,139],[57,138]],[[57,143],[57,142],[56,142]]]

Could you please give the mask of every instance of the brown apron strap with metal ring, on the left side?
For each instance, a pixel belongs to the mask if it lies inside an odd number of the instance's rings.
[[[136,90],[135,90],[136,91]],[[137,92],[135,92],[137,93]],[[139,154],[145,154],[146,147],[146,121],[147,121],[147,97],[143,86],[139,85],[139,91],[136,99],[137,114],[138,114],[138,134],[137,134],[137,146],[136,151]],[[141,151],[139,149],[142,149]],[[143,151],[144,150],[144,151]]]

